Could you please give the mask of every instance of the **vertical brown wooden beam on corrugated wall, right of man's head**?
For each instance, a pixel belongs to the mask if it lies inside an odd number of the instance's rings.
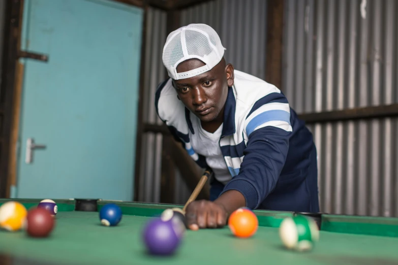
[[[265,80],[282,89],[282,36],[284,0],[267,1]]]

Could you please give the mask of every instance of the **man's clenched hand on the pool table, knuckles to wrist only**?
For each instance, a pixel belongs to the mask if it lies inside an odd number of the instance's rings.
[[[228,213],[221,204],[201,200],[188,205],[185,218],[191,230],[220,228],[227,223]]]

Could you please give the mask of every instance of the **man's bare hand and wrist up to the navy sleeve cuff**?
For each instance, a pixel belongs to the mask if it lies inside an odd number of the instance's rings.
[[[223,227],[227,224],[228,216],[243,206],[246,206],[246,200],[236,190],[228,190],[214,202],[194,201],[186,209],[187,226],[191,230]]]

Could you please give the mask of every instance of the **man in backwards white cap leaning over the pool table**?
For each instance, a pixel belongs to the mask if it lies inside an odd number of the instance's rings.
[[[163,49],[170,79],[156,92],[158,115],[214,172],[210,201],[187,207],[188,226],[222,227],[240,207],[318,212],[311,132],[277,87],[234,70],[224,50],[205,24],[171,32]]]

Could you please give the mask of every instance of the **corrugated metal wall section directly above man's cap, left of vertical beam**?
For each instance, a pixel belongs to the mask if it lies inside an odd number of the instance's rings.
[[[220,36],[225,59],[234,68],[265,77],[265,0],[216,0],[181,12],[181,26],[205,23]]]

